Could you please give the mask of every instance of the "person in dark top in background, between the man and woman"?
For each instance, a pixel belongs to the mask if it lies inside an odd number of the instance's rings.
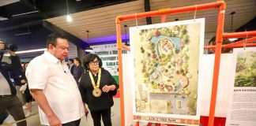
[[[85,69],[81,66],[81,60],[78,57],[73,59],[73,64],[76,65],[76,67],[73,69],[73,78],[77,81],[78,84],[78,80],[85,72]]]

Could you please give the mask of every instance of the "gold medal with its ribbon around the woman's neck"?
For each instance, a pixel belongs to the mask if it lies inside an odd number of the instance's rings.
[[[95,81],[93,80],[93,77],[92,77],[92,72],[89,71],[89,76],[90,76],[90,79],[91,79],[91,82],[92,82],[92,86],[93,86],[93,91],[92,91],[92,95],[94,97],[100,97],[102,91],[100,90],[100,77],[101,77],[101,69],[99,69],[99,74],[98,74],[98,80],[97,80],[97,84],[95,83]]]

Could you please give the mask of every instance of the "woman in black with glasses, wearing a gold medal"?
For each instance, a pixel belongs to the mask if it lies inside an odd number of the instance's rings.
[[[81,76],[79,82],[82,100],[88,105],[94,126],[101,125],[101,117],[104,126],[111,126],[111,106],[114,105],[113,96],[116,95],[119,85],[110,72],[101,68],[102,61],[98,55],[87,54],[83,64],[88,72]]]

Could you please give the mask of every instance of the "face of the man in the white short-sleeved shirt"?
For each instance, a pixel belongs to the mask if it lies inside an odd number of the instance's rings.
[[[53,54],[58,60],[65,60],[69,56],[69,43],[67,39],[57,38],[56,46],[50,45],[49,49],[51,54]]]

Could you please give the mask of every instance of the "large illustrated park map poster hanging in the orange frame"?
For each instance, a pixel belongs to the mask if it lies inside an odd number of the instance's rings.
[[[199,125],[205,19],[130,28],[134,120]]]

